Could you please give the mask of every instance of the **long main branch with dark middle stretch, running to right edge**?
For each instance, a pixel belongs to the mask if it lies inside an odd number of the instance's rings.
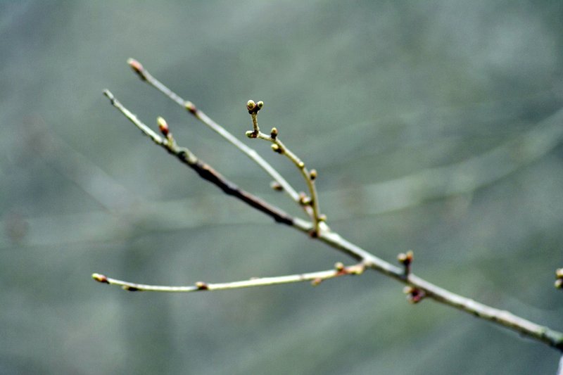
[[[232,182],[215,172],[213,168],[201,163],[195,155],[187,151],[186,148],[177,146],[171,137],[168,141],[163,140],[160,136],[158,136],[158,134],[140,122],[135,115],[127,110],[127,108],[124,108],[109,91],[104,91],[104,94],[110,98],[113,106],[118,108],[122,114],[133,122],[139,129],[141,129],[144,134],[149,136],[156,144],[163,146],[163,148],[167,149],[168,152],[176,155],[183,163],[196,170],[201,177],[219,186],[225,193],[236,196],[248,205],[251,205],[253,208],[265,212],[267,215],[270,215],[270,217],[274,217],[274,220],[277,222],[287,224],[305,233],[310,233],[312,223],[293,218],[278,208],[262,201],[260,198],[253,196],[253,194],[241,191]],[[545,343],[552,348],[557,348],[557,350],[563,351],[563,333],[559,331],[550,329],[547,326],[540,326],[539,324],[530,322],[529,320],[517,317],[510,312],[498,310],[493,307],[483,305],[482,303],[478,303],[470,298],[462,297],[461,295],[457,295],[445,290],[444,288],[431,284],[429,281],[417,277],[415,274],[409,273],[405,275],[405,270],[403,268],[391,265],[391,263],[378,258],[349,241],[346,241],[346,239],[343,239],[335,232],[321,231],[319,236],[317,236],[317,239],[327,243],[327,245],[332,248],[341,250],[341,252],[359,260],[365,265],[365,267],[372,268],[400,281],[403,284],[406,284],[407,286],[411,286],[415,290],[421,292],[426,298],[432,298],[439,303],[455,307],[458,310],[467,312],[481,319],[488,320],[489,322],[494,322],[500,326],[505,326],[508,329],[521,333],[523,336],[528,336],[529,338]]]

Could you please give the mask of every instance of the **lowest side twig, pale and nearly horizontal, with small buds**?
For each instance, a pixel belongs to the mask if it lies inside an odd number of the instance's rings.
[[[170,293],[189,293],[197,291],[229,291],[232,289],[251,288],[253,286],[270,286],[279,284],[301,283],[304,281],[311,281],[313,286],[317,286],[322,281],[334,279],[346,275],[358,275],[364,272],[365,265],[359,263],[345,267],[342,263],[336,263],[334,269],[327,271],[310,272],[307,274],[293,274],[287,276],[277,277],[253,277],[249,280],[231,281],[228,283],[205,283],[198,281],[190,286],[160,286],[160,285],[147,285],[135,284],[128,281],[112,279],[103,274],[92,274],[92,279],[99,281],[103,284],[119,285],[125,291],[151,291],[151,292],[170,292]]]

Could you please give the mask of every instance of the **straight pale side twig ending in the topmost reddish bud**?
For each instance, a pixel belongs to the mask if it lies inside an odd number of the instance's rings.
[[[289,182],[287,182],[286,179],[284,179],[284,177],[282,177],[281,174],[279,174],[279,172],[277,172],[277,170],[275,170],[274,167],[272,167],[270,163],[264,160],[262,156],[260,156],[255,150],[246,146],[246,144],[243,144],[241,141],[239,141],[239,139],[236,139],[235,136],[233,136],[230,132],[224,129],[224,127],[217,124],[217,122],[211,120],[210,117],[208,117],[208,115],[205,115],[205,113],[203,113],[202,110],[196,108],[194,103],[191,103],[191,101],[184,100],[174,91],[166,87],[165,84],[163,84],[155,77],[153,77],[151,73],[149,73],[143,67],[143,65],[141,65],[141,63],[139,63],[139,61],[134,60],[133,58],[129,58],[127,63],[129,63],[129,65],[134,70],[134,72],[136,72],[137,75],[139,75],[141,80],[150,84],[152,87],[154,87],[161,93],[165,94],[165,96],[168,96],[170,99],[172,99],[172,101],[178,103],[179,106],[186,108],[186,110],[188,110],[189,113],[194,115],[196,119],[203,122],[204,125],[210,127],[210,129],[213,129],[213,131],[215,131],[217,134],[219,134],[224,139],[229,141],[230,144],[232,144],[240,151],[242,151],[242,153],[248,156],[248,158],[251,158],[251,160],[253,160],[256,164],[258,164],[262,168],[262,170],[265,170],[267,174],[270,174],[270,177],[272,177],[272,179],[274,179],[274,181],[276,181],[284,189],[284,191],[286,191],[286,193],[288,193],[289,196],[291,196],[291,199],[293,199],[293,201],[299,202],[299,194],[297,193],[297,191],[293,189],[291,184],[289,184]]]

